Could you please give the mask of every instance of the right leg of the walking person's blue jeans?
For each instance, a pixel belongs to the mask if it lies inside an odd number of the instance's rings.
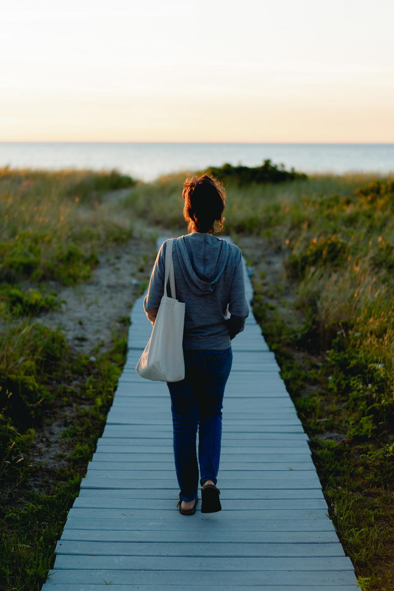
[[[198,395],[198,463],[200,484],[217,482],[222,441],[224,388],[232,366],[232,349],[201,352],[200,392]]]

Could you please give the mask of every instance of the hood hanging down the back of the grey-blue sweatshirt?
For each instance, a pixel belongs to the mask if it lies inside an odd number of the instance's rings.
[[[185,281],[196,296],[212,293],[226,267],[229,243],[210,234],[193,232],[174,242]]]

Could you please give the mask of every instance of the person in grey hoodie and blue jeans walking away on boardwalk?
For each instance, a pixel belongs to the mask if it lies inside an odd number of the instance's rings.
[[[181,514],[193,515],[198,502],[198,463],[201,512],[222,508],[216,483],[223,394],[233,358],[230,341],[243,330],[249,309],[241,251],[212,235],[223,229],[226,194],[222,184],[207,174],[187,178],[182,196],[183,215],[190,233],[174,241],[172,260],[177,300],[185,303],[185,378],[167,382],[167,386],[180,486],[177,506]],[[159,249],[144,300],[144,310],[152,324],[164,291],[166,242]]]

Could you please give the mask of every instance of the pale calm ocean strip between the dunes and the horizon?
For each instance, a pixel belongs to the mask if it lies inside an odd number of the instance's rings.
[[[274,164],[305,173],[394,173],[394,144],[0,142],[0,167],[112,170],[144,181],[224,163]]]

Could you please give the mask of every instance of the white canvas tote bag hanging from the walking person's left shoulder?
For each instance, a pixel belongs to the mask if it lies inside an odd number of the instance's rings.
[[[135,368],[141,378],[159,382],[179,382],[185,377],[182,347],[185,304],[175,299],[173,243],[173,240],[169,240],[166,245],[164,295],[161,298],[151,338]],[[167,296],[168,278],[170,278],[172,297]]]

